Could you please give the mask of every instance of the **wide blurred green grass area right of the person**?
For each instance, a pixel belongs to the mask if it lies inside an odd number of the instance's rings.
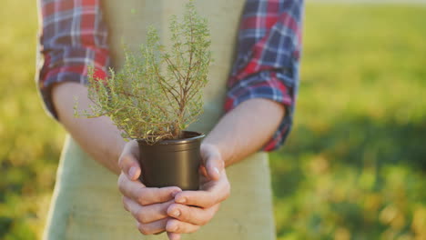
[[[426,237],[424,15],[308,5],[295,129],[271,160],[279,239]]]

